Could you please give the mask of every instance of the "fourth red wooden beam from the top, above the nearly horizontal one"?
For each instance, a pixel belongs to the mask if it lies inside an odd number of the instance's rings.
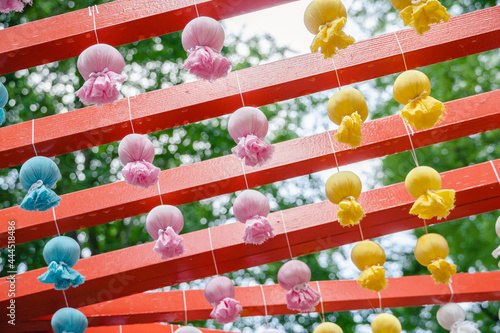
[[[495,169],[500,160],[457,169],[442,174],[443,188],[456,191],[456,208],[449,220],[481,214],[500,206],[500,184]],[[403,183],[365,192],[359,202],[366,217],[361,222],[366,238],[422,227],[422,220],[409,215],[415,201]],[[283,215],[281,215],[283,213]],[[283,219],[282,219],[283,216]],[[154,243],[128,247],[82,259],[75,266],[86,277],[85,283],[70,288],[66,296],[72,306],[83,307],[215,274],[212,254],[220,274],[258,266],[289,257],[284,223],[294,256],[360,240],[357,226],[343,228],[336,221],[336,206],[321,202],[275,212],[269,215],[276,237],[261,246],[245,245],[241,239],[241,223],[211,228],[213,252],[207,230],[184,234],[186,253],[170,260],[161,260]],[[435,219],[429,225],[445,222]],[[17,276],[16,319],[26,321],[50,315],[65,306],[60,291],[37,281],[46,268]],[[7,278],[0,279],[0,308],[10,302]]]

